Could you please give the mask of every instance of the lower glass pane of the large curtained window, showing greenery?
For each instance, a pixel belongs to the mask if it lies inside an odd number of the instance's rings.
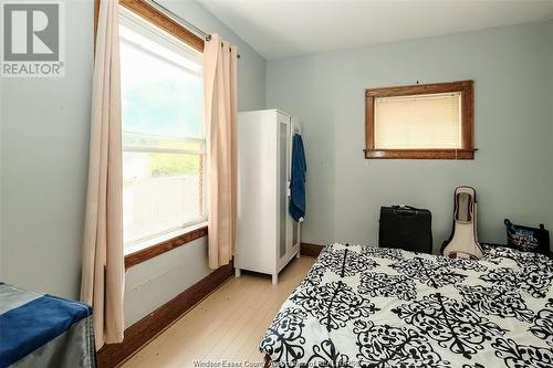
[[[204,219],[201,156],[124,153],[125,243]]]

